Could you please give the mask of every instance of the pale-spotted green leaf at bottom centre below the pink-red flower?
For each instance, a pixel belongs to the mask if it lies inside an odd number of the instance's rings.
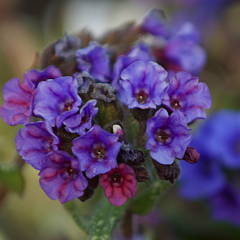
[[[121,207],[111,205],[104,197],[96,207],[95,214],[89,223],[90,240],[109,240],[112,239],[112,230],[117,222],[124,215],[127,204]]]

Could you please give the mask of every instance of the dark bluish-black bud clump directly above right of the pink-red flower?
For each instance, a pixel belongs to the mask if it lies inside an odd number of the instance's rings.
[[[121,150],[118,154],[118,161],[127,163],[131,166],[141,165],[144,162],[143,152],[134,149],[130,144],[122,144]]]

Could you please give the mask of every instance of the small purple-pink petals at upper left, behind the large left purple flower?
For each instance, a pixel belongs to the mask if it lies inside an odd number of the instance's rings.
[[[37,87],[37,85],[42,81],[58,78],[61,76],[62,74],[60,70],[54,66],[49,66],[40,71],[36,69],[32,69],[24,75],[24,77],[29,81],[31,81],[35,87]]]

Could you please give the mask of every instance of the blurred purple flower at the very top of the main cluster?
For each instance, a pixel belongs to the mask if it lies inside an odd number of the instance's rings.
[[[159,9],[153,9],[146,15],[141,28],[144,32],[158,37],[167,38],[170,33],[164,12]]]

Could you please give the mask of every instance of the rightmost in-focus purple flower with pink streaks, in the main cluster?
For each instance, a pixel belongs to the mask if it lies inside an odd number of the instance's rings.
[[[205,109],[211,107],[211,96],[205,83],[186,72],[170,73],[169,87],[163,97],[163,104],[171,110],[179,110],[187,123],[205,118]]]

